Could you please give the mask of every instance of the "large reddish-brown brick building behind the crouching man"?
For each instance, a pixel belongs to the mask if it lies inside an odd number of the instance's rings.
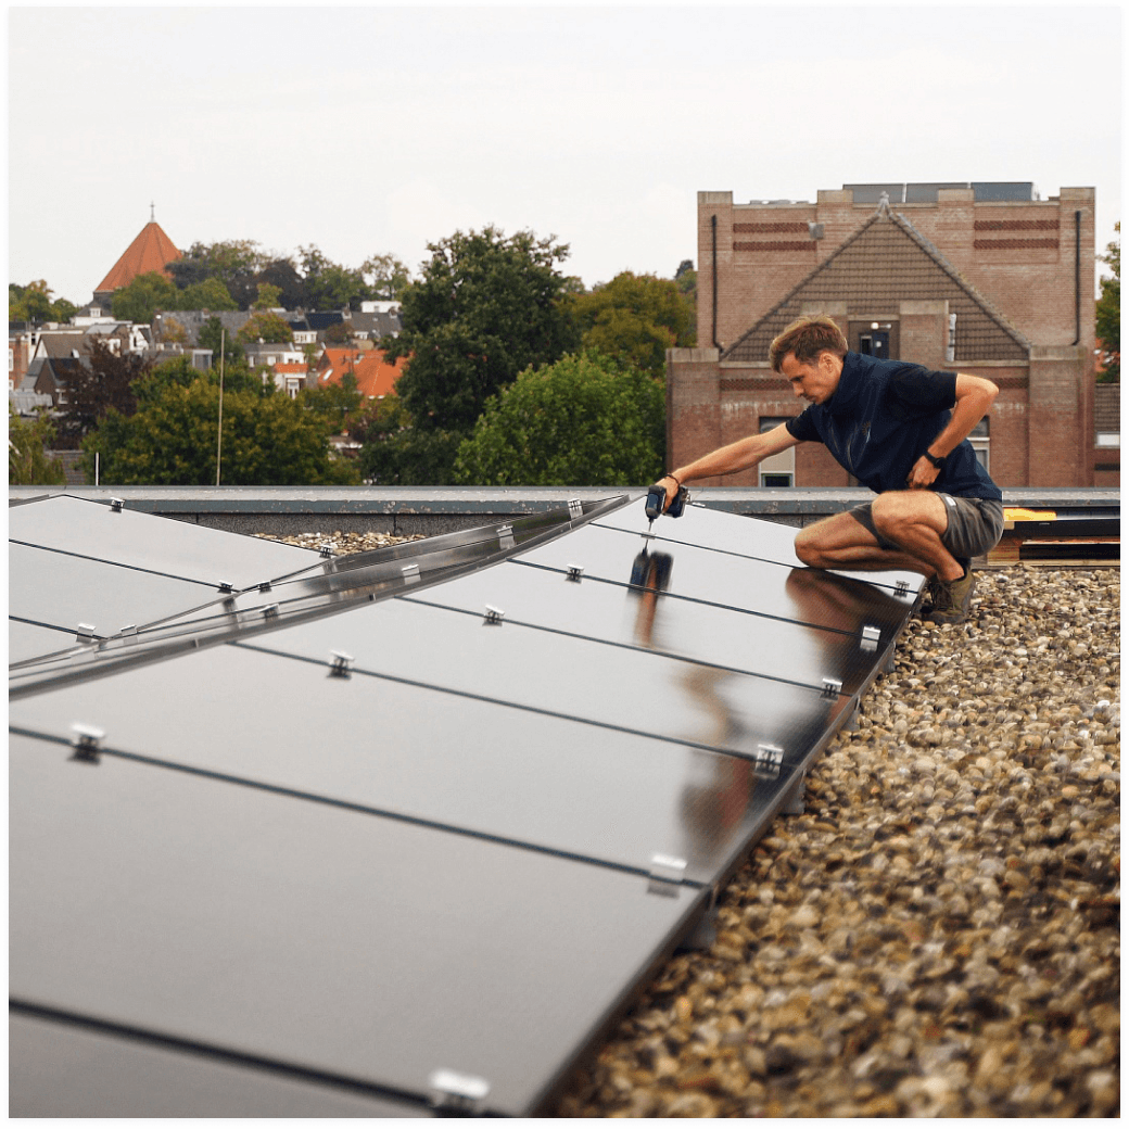
[[[1093,485],[1094,237],[1091,187],[846,185],[814,204],[700,192],[700,348],[667,353],[669,464],[797,414],[769,342],[825,313],[856,351],[994,380],[972,438],[1000,485]],[[703,484],[855,483],[800,444]]]

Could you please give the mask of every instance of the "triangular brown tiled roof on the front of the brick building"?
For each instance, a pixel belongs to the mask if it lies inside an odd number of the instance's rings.
[[[1031,344],[965,281],[904,216],[885,204],[721,355],[764,360],[804,305],[847,301],[848,317],[893,310],[902,300],[946,300],[956,314],[956,360],[1025,361]]]

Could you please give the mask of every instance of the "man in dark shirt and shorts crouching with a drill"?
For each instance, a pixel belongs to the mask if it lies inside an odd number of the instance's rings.
[[[769,360],[808,406],[771,431],[676,467],[659,480],[667,506],[685,482],[823,443],[878,497],[800,530],[796,555],[814,568],[921,572],[933,595],[928,618],[963,622],[971,559],[1004,530],[1003,495],[968,441],[999,388],[979,376],[851,352],[825,315],[793,322],[769,347]]]

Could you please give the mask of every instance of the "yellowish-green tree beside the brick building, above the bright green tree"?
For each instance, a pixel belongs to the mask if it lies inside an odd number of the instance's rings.
[[[623,271],[572,299],[585,349],[637,365],[656,378],[666,373],[666,350],[692,345],[694,312],[669,279]]]

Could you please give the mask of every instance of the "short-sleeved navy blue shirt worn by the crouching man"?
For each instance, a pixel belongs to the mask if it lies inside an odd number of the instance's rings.
[[[913,464],[952,419],[956,374],[848,352],[839,386],[823,404],[788,420],[800,441],[822,443],[875,493],[904,490]],[[945,460],[933,490],[956,498],[996,498],[999,487],[964,439]]]

